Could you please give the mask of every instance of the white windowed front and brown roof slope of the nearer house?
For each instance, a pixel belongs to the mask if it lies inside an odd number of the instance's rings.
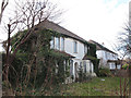
[[[96,76],[94,73],[94,65],[91,60],[83,60],[84,56],[87,53],[87,46],[84,42],[86,40],[49,21],[40,23],[39,26],[56,30],[57,33],[63,35],[61,37],[52,36],[50,48],[72,57],[70,63],[70,76],[73,76],[73,81],[79,77],[79,70],[81,66],[83,72],[85,72],[87,75]]]

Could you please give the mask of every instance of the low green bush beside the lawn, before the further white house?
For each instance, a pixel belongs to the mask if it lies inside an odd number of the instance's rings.
[[[99,68],[99,74],[98,76],[106,77],[106,76],[112,76],[111,72],[107,68]]]

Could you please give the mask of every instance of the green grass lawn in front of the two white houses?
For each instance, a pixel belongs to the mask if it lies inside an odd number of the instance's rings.
[[[96,77],[85,83],[64,85],[62,88],[63,96],[120,96],[120,78]]]

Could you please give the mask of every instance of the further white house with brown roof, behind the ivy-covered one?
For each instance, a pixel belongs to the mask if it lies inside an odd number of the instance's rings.
[[[107,49],[106,47],[94,40],[90,40],[90,42],[96,45],[96,49],[97,49],[96,54],[97,58],[100,60],[99,68],[104,66],[104,68],[108,68],[109,70],[120,69],[120,64],[118,64],[117,53],[115,53],[114,51]]]

